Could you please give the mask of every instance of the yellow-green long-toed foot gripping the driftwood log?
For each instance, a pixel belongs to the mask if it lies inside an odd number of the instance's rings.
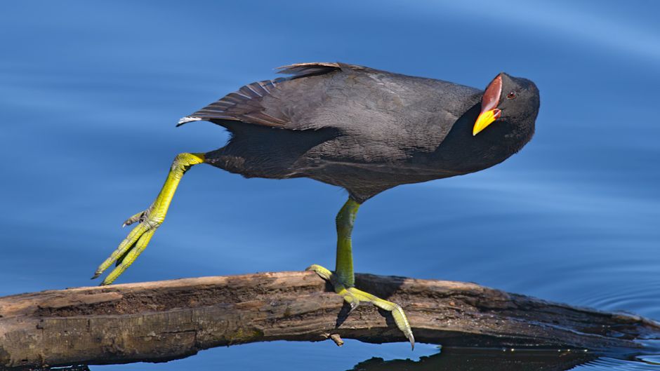
[[[376,297],[376,295],[371,295],[369,292],[364,292],[354,287],[347,287],[344,283],[341,282],[336,274],[327,268],[321,267],[320,265],[312,264],[305,270],[315,271],[316,274],[318,274],[321,278],[329,281],[334,287],[335,292],[343,297],[344,301],[350,305],[350,311],[353,311],[355,308],[357,308],[360,302],[369,302],[380,309],[392,313],[392,318],[394,318],[394,322],[396,323],[397,328],[399,328],[399,330],[401,330],[408,338],[412,349],[415,349],[415,337],[413,336],[412,329],[410,328],[410,323],[408,323],[406,313],[404,313],[399,304],[388,302],[385,299]]]

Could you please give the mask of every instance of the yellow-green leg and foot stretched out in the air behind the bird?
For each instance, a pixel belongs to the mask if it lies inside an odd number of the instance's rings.
[[[129,217],[126,222],[124,222],[124,226],[135,222],[138,222],[138,226],[133,228],[131,233],[124,238],[124,241],[119,243],[117,250],[114,250],[112,255],[105,259],[105,262],[96,269],[92,279],[103,274],[105,269],[108,269],[112,263],[117,262],[117,267],[115,267],[112,272],[105,277],[103,283],[101,283],[101,285],[110,285],[110,283],[117,279],[126,268],[133,264],[138,255],[140,255],[140,253],[147,247],[147,244],[151,240],[156,229],[160,227],[160,224],[165,220],[167,209],[172,202],[174,192],[176,191],[176,187],[178,187],[183,174],[185,174],[191,166],[203,162],[204,154],[178,154],[176,158],[174,158],[174,162],[167,175],[165,184],[158,194],[156,201],[154,201],[147,210]]]

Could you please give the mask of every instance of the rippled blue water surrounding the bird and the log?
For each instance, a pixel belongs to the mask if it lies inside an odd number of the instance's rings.
[[[536,136],[519,154],[367,202],[357,271],[660,319],[659,12],[653,1],[5,2],[0,295],[91,284],[173,156],[227,139],[211,123],[175,128],[180,117],[273,67],[338,60],[481,88],[504,71],[541,90]],[[118,282],[332,267],[345,197],[197,166]],[[345,370],[434,353],[273,342],[91,369]],[[658,367],[649,357],[577,369]]]

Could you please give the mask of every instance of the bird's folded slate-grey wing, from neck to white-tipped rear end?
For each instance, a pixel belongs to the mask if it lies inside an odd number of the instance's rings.
[[[356,148],[431,150],[481,94],[447,81],[343,63],[300,63],[279,72],[291,76],[246,85],[180,124],[207,120],[286,130],[334,128],[354,138]]]

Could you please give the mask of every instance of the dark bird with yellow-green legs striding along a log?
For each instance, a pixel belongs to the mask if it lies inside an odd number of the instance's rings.
[[[308,177],[348,191],[336,216],[334,271],[315,271],[355,309],[361,302],[390,311],[414,349],[411,325],[396,303],[355,288],[351,234],[360,206],[402,184],[437,180],[490,168],[532,139],[540,97],[536,85],[504,72],[484,90],[341,62],[279,67],[288,76],[249,83],[178,121],[210,121],[230,140],[206,153],[176,155],[165,184],[97,278],[116,267],[109,285],[147,247],[166,217],[176,188],[199,163],[244,177]]]

